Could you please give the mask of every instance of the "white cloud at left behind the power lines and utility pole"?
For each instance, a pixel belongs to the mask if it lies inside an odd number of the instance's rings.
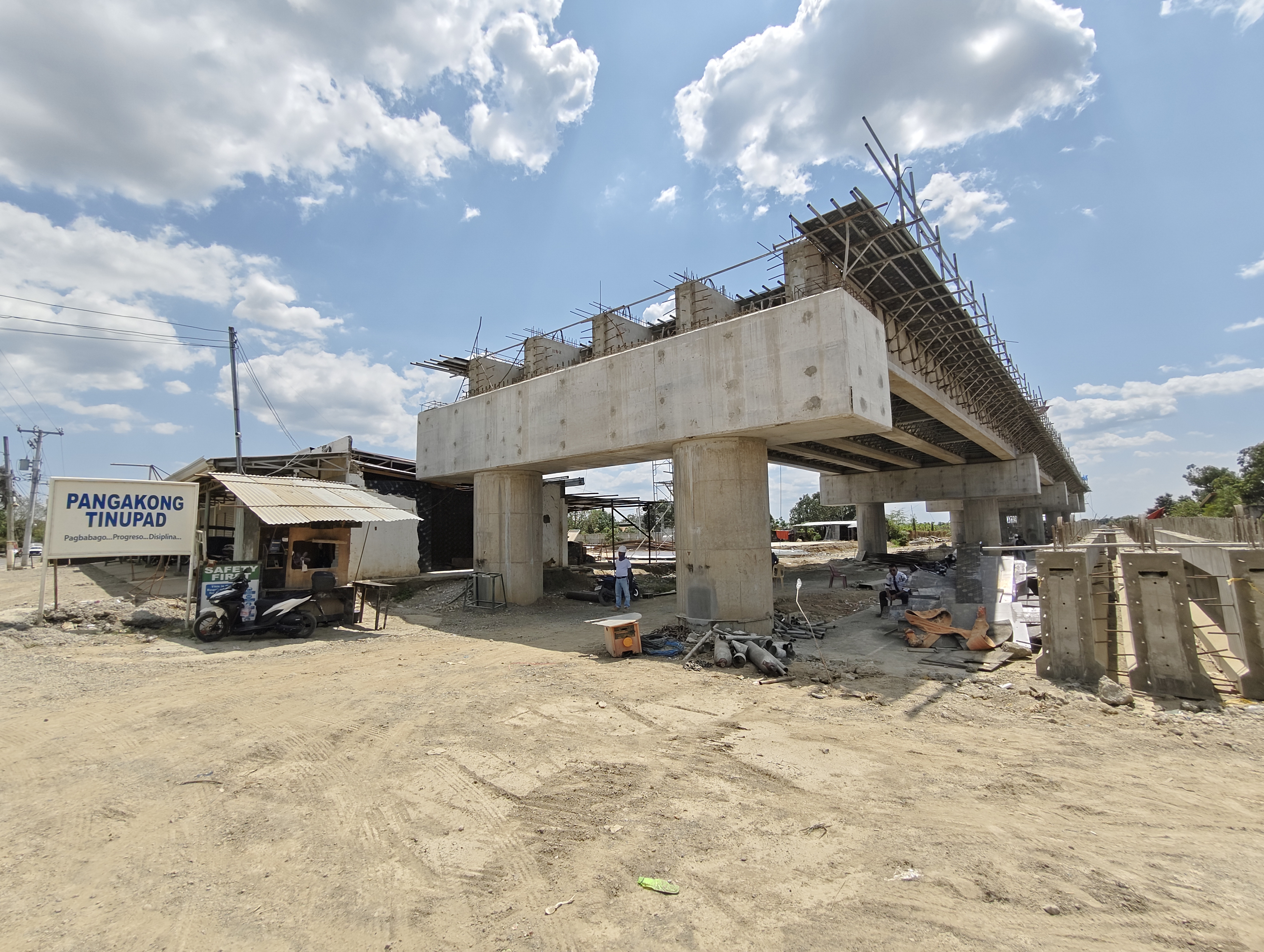
[[[226,345],[219,321],[178,326],[161,298],[222,308],[238,302],[238,317],[278,336],[316,339],[336,325],[315,308],[291,306],[296,292],[270,274],[274,265],[225,245],[193,244],[171,229],[138,238],[86,216],[56,225],[0,202],[0,295],[6,296],[0,314],[8,315],[0,319],[0,346],[34,392],[32,403],[130,427],[144,415],[119,402],[92,403],[85,394],[144,389],[153,372],[169,375],[214,363],[215,351],[204,344]],[[163,386],[168,393],[190,389],[178,379]],[[13,397],[0,391],[6,407],[29,396],[9,389]]]

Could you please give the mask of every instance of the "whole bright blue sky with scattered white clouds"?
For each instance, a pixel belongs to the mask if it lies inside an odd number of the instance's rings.
[[[1052,401],[1092,508],[1138,512],[1187,464],[1264,440],[1261,14],[6,6],[0,312],[27,320],[0,320],[0,426],[11,442],[16,425],[64,427],[54,475],[230,454],[226,354],[171,335],[200,344],[231,322],[301,446],[350,432],[411,458],[417,410],[456,382],[410,364],[468,354],[480,319],[480,346],[499,348],[598,296],[758,254],[805,202],[856,186],[885,201],[865,113]],[[720,278],[767,279],[760,264]],[[245,451],[286,451],[245,389]],[[588,477],[648,496],[648,465]],[[771,508],[814,488],[774,468]]]

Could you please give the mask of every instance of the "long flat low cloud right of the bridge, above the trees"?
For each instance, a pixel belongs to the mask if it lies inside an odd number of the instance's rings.
[[[1264,389],[1264,369],[1222,370],[1172,377],[1163,383],[1129,381],[1122,387],[1081,384],[1077,392],[1106,396],[1049,401],[1049,420],[1059,430],[1086,430],[1131,420],[1154,420],[1177,412],[1179,397],[1234,396]]]

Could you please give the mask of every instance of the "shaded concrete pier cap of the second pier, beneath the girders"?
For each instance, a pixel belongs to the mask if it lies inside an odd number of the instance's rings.
[[[1035,454],[1031,453],[1023,454],[1018,459],[969,463],[964,467],[924,467],[886,473],[820,477],[820,502],[823,506],[1038,496],[1039,493],[1040,464],[1036,461]]]

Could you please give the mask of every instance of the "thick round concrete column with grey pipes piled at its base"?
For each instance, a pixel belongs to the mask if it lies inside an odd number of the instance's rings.
[[[729,621],[771,635],[767,442],[685,440],[672,464],[676,611],[691,625]]]

